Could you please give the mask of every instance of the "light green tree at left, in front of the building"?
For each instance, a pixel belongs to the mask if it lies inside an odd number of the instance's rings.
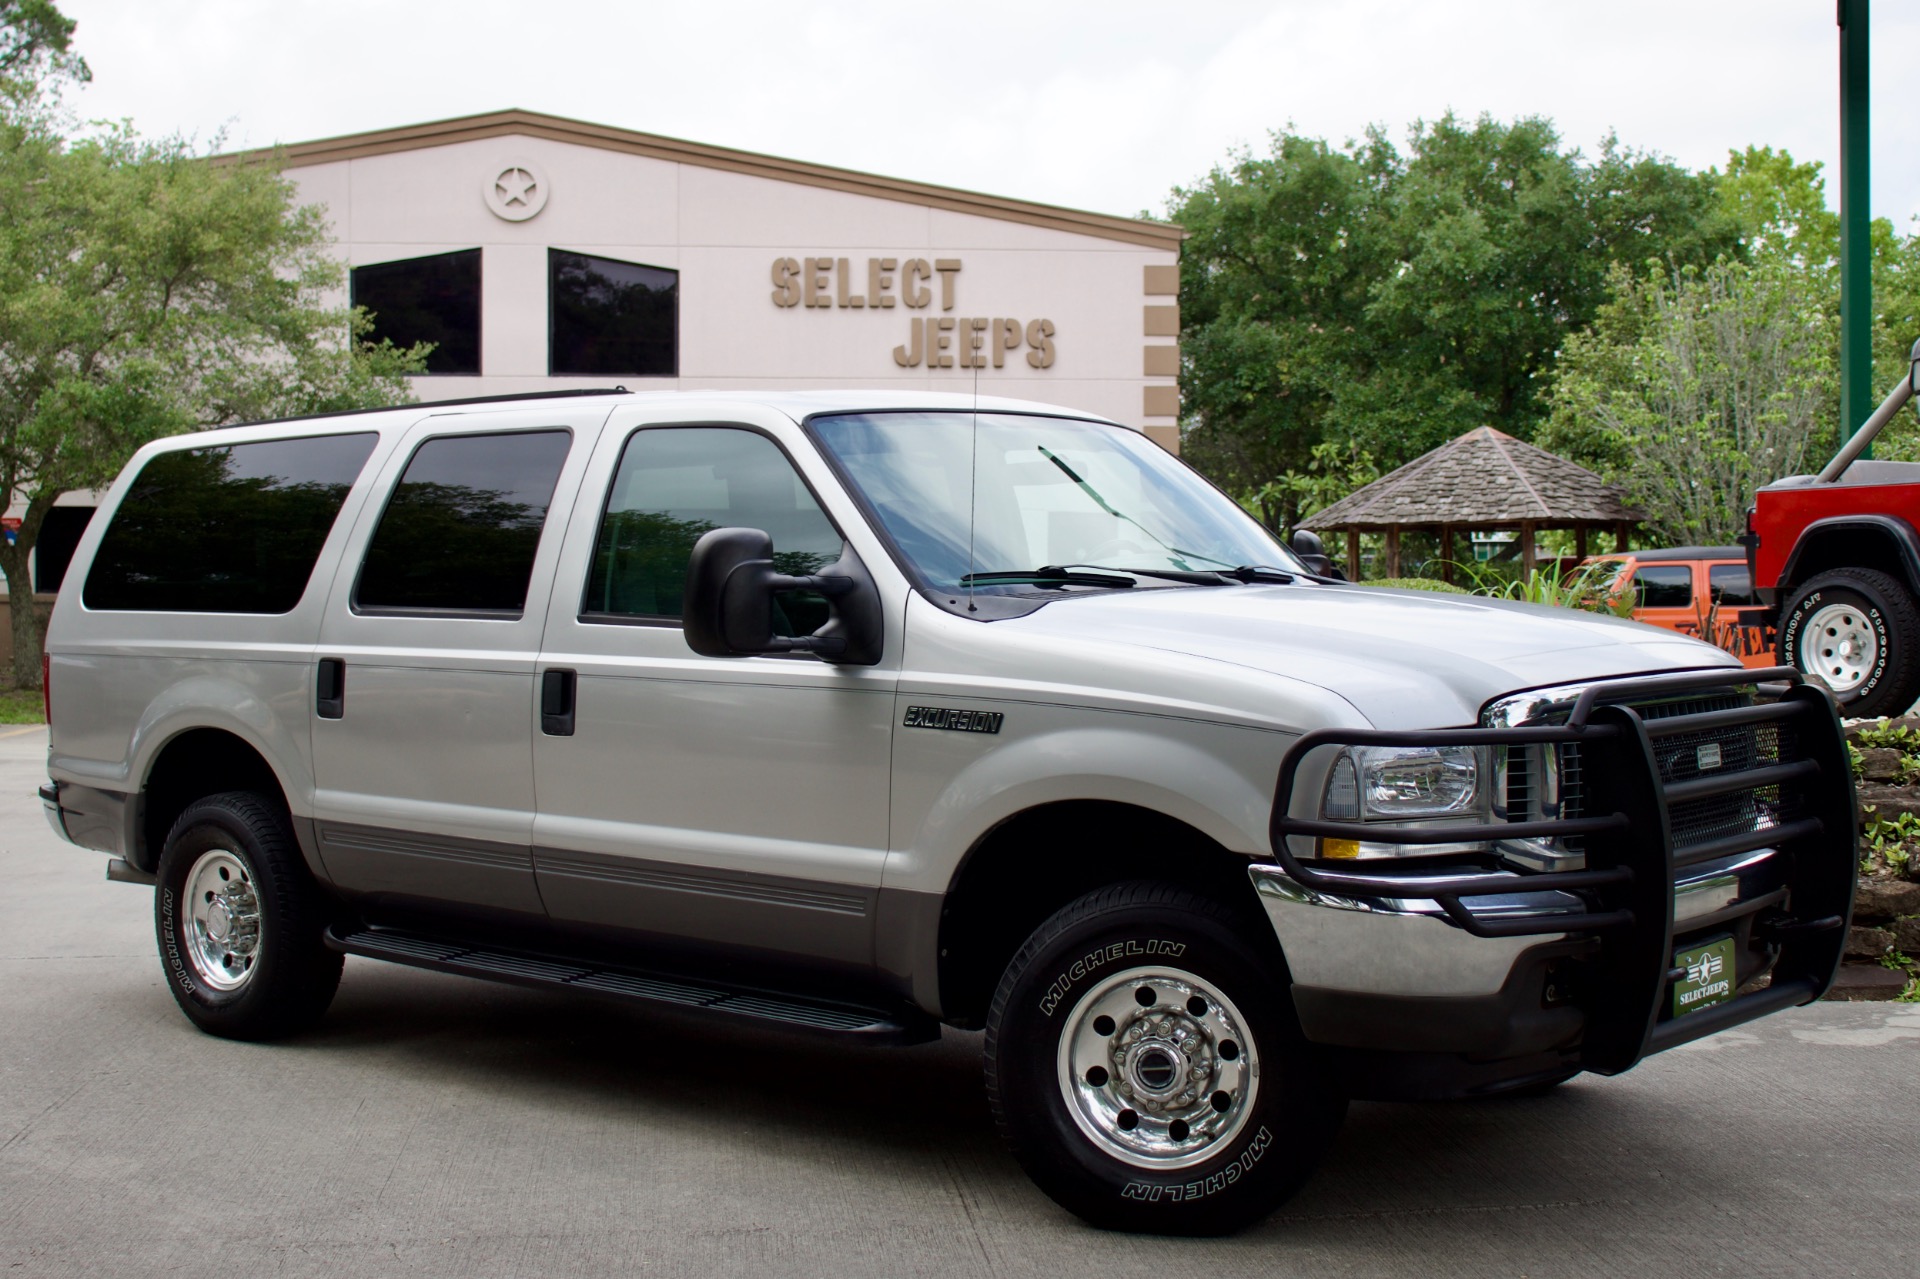
[[[365,317],[330,302],[323,215],[275,167],[75,129],[71,33],[50,4],[0,6],[0,492],[25,505],[0,572],[23,688],[40,682],[29,565],[60,494],[165,434],[401,403],[426,355],[365,344]]]

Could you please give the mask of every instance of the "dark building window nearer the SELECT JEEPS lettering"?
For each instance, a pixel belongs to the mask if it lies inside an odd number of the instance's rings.
[[[680,273],[547,250],[547,371],[662,376],[680,369]]]

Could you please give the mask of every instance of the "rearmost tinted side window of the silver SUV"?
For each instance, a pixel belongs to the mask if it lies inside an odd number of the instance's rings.
[[[88,609],[292,613],[376,440],[263,440],[148,459],[81,597]]]

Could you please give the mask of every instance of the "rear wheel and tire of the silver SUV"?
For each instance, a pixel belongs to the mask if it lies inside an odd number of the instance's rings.
[[[280,808],[228,791],[196,801],[167,833],[154,931],[167,989],[194,1026],[278,1039],[326,1012],[342,956]]]

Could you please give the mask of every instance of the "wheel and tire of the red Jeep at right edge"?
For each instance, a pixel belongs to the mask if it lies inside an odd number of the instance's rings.
[[[1822,572],[1780,615],[1780,664],[1818,674],[1849,716],[1901,714],[1920,699],[1920,609],[1876,568]]]

